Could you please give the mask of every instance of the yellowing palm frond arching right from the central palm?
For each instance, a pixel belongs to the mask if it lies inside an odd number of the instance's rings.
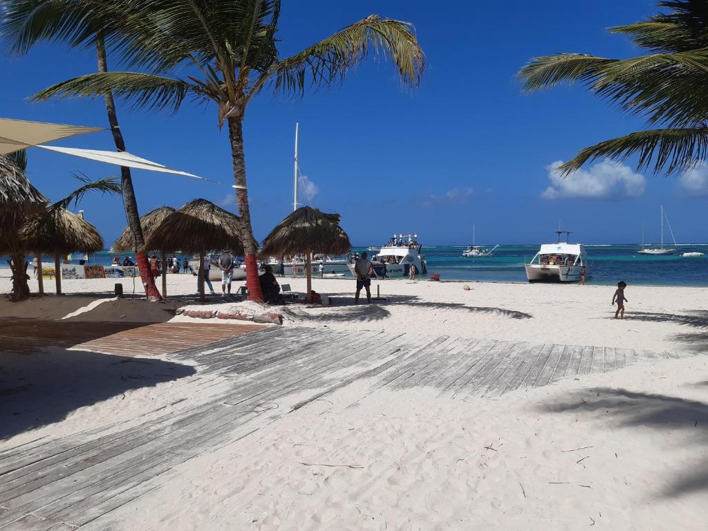
[[[249,97],[270,79],[276,93],[295,96],[302,96],[308,80],[312,86],[331,86],[343,81],[370,52],[390,57],[405,86],[413,88],[420,83],[425,55],[413,25],[372,15],[282,59],[258,81]]]

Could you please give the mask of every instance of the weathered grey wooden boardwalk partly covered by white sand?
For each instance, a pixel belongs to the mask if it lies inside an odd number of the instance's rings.
[[[159,496],[161,485],[179,481],[179,464],[364,379],[359,399],[379,389],[414,387],[464,399],[677,357],[305,327],[225,338],[170,356],[196,364],[197,373],[176,382],[190,398],[169,409],[141,411],[130,423],[107,422],[63,438],[6,444],[0,452],[0,530],[123,529],[113,511],[140,496]]]

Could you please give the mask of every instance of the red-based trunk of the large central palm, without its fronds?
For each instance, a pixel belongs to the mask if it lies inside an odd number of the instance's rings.
[[[258,263],[256,262],[256,239],[253,238],[249,194],[246,188],[243,125],[242,118],[229,118],[229,142],[231,142],[234,183],[236,183],[236,205],[239,206],[239,216],[241,218],[240,236],[241,241],[244,242],[244,252],[246,254],[246,287],[249,288],[249,300],[262,301],[263,292],[261,291],[261,281],[258,280]]]

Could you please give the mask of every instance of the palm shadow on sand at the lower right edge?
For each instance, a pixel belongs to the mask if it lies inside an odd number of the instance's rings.
[[[596,387],[578,390],[564,401],[545,404],[541,409],[547,413],[573,411],[578,416],[586,413],[590,418],[603,420],[609,416],[623,427],[684,430],[690,433],[693,444],[700,447],[708,444],[708,404],[678,396]],[[690,470],[678,472],[678,476],[679,479],[657,493],[658,496],[670,498],[708,490],[708,459],[696,462]]]

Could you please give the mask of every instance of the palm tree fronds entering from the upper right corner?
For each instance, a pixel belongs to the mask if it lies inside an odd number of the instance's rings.
[[[658,2],[668,12],[646,21],[610,28],[631,35],[647,55],[607,59],[581,54],[535,57],[520,70],[524,89],[536,91],[580,81],[590,91],[632,115],[644,115],[651,129],[582,149],[561,166],[568,175],[588,161],[624,161],[639,154],[639,169],[685,171],[708,149],[708,4],[704,0]]]

